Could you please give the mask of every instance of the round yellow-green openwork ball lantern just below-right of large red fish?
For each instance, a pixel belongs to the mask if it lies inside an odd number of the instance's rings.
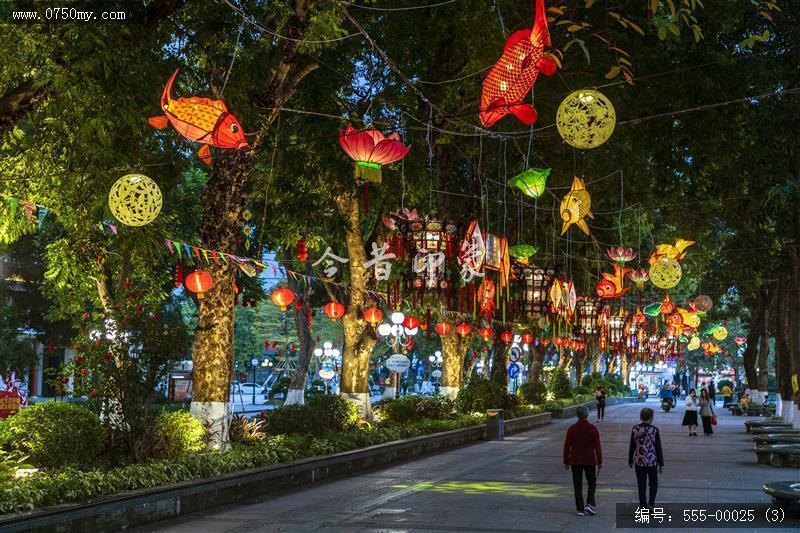
[[[556,127],[567,144],[588,150],[606,142],[617,125],[611,101],[590,89],[573,92],[556,111]]]

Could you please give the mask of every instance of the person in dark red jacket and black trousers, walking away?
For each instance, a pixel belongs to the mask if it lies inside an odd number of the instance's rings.
[[[567,429],[564,439],[564,469],[572,469],[572,486],[575,489],[575,507],[578,516],[594,515],[594,492],[597,488],[597,471],[603,467],[603,450],[600,446],[600,432],[587,418],[589,411],[578,407],[578,421]],[[589,491],[586,505],[583,504],[583,476]]]

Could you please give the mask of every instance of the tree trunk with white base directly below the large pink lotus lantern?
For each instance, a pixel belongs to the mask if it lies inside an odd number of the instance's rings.
[[[335,198],[345,223],[347,254],[350,258],[350,302],[342,317],[344,347],[342,348],[341,396],[355,402],[359,413],[372,420],[369,398],[369,360],[375,347],[371,327],[362,312],[368,307],[367,289],[371,273],[364,267],[367,253],[361,236],[361,207],[353,192]]]

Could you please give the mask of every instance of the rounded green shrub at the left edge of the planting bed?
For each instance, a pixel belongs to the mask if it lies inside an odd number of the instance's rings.
[[[46,468],[91,468],[105,449],[100,419],[79,405],[32,405],[10,417],[6,424],[6,445],[27,455],[31,463]]]

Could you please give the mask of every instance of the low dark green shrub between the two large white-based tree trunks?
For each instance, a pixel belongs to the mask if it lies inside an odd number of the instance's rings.
[[[358,423],[356,405],[341,396],[327,394],[311,398],[305,405],[287,405],[264,411],[272,435],[307,433],[321,435],[328,431],[352,429]]]

